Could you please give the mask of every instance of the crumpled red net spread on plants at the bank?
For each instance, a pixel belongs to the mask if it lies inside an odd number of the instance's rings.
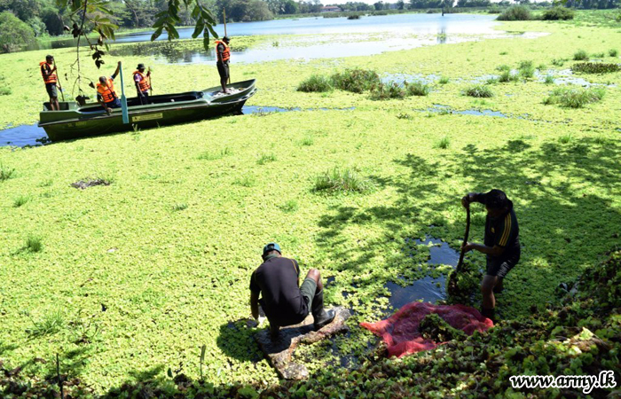
[[[385,320],[360,325],[380,336],[388,344],[389,356],[402,357],[421,350],[433,349],[444,343],[426,340],[419,332],[421,320],[430,313],[436,313],[446,323],[468,335],[472,335],[475,331],[484,332],[494,325],[489,318],[483,317],[474,308],[463,305],[433,305],[426,302],[408,303]]]

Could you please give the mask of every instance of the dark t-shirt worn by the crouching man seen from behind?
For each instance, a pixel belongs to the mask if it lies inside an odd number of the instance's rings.
[[[261,306],[270,321],[295,325],[308,315],[298,278],[300,267],[293,259],[272,257],[263,262],[250,278],[250,290],[261,293]]]

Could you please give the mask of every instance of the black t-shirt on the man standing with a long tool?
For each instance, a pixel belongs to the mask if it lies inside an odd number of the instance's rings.
[[[476,202],[485,203],[484,196],[478,194]],[[485,218],[485,246],[502,246],[505,251],[499,257],[488,255],[492,259],[507,260],[520,251],[520,227],[515,217],[513,202],[509,201],[509,210],[505,215]]]

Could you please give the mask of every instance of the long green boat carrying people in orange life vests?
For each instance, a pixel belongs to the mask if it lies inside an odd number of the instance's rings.
[[[213,87],[202,91],[150,96],[151,104],[147,106],[141,106],[138,97],[128,98],[128,124],[122,121],[121,108],[114,108],[108,114],[97,103],[80,106],[69,101],[60,103],[60,111],[51,111],[50,103],[44,103],[39,127],[45,129],[51,141],[60,141],[240,113],[244,103],[256,92],[255,80],[235,82],[229,84],[227,89],[232,92],[224,94],[220,87]]]

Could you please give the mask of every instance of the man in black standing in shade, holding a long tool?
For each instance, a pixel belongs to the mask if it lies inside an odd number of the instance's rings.
[[[494,293],[502,292],[502,280],[520,261],[520,229],[513,208],[513,202],[500,190],[485,193],[470,192],[461,199],[464,207],[471,202],[485,205],[485,234],[483,244],[466,243],[465,251],[474,249],[486,255],[487,271],[481,283],[483,303],[481,313],[494,319],[496,298]]]

